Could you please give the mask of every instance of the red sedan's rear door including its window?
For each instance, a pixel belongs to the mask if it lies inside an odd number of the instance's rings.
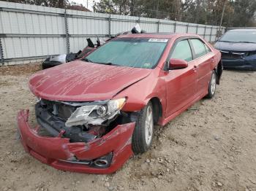
[[[202,40],[189,39],[197,67],[196,97],[204,95],[208,90],[208,82],[211,79],[211,63],[214,61],[214,53]]]

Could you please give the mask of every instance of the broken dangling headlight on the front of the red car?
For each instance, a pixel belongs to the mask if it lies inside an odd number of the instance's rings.
[[[95,104],[80,106],[67,119],[65,125],[102,125],[106,120],[110,120],[119,114],[124,106],[126,98],[110,100],[106,104]]]

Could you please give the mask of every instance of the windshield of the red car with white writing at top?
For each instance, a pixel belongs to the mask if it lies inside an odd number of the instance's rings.
[[[153,69],[165,50],[167,39],[117,38],[91,52],[84,61],[115,66]]]

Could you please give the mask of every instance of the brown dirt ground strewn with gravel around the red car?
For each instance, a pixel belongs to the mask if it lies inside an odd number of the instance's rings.
[[[58,171],[23,151],[16,114],[36,101],[39,66],[0,67],[0,190],[256,190],[256,72],[224,71],[216,96],[157,127],[153,147],[115,174]]]

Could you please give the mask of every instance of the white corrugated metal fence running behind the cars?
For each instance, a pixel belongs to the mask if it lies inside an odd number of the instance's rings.
[[[0,62],[29,63],[48,55],[78,52],[86,47],[86,38],[93,42],[97,37],[106,39],[129,31],[136,23],[147,32],[200,34],[210,42],[215,41],[218,31],[218,26],[0,1]]]

